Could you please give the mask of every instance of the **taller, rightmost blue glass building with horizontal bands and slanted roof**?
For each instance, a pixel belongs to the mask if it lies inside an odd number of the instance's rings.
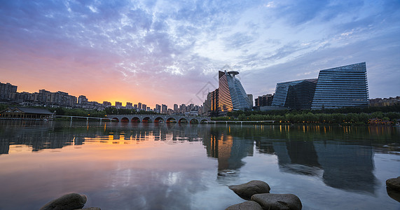
[[[368,106],[366,63],[319,71],[311,109]]]

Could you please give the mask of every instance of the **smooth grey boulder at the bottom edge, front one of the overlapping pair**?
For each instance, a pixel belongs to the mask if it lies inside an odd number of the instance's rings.
[[[263,193],[251,196],[251,200],[260,204],[263,209],[300,210],[302,208],[300,199],[293,194]]]

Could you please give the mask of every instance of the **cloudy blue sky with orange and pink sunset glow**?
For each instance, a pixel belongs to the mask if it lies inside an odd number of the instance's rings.
[[[366,62],[400,96],[400,1],[0,0],[0,82],[102,103],[202,104],[218,71],[254,98]]]

